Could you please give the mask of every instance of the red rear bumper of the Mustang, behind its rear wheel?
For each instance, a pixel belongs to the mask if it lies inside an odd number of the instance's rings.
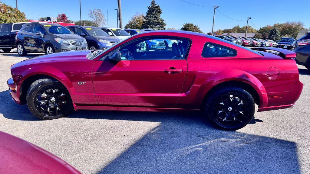
[[[290,91],[261,94],[268,98],[268,102],[267,105],[263,103],[262,106],[259,107],[258,112],[292,108],[295,105],[295,102],[299,99],[302,90],[303,84],[299,81],[299,78],[296,78]],[[270,96],[275,95],[282,95],[282,97],[269,98]]]

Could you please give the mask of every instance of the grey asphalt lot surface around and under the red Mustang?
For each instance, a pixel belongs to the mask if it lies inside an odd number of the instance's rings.
[[[310,71],[293,109],[256,112],[235,131],[197,113],[75,111],[43,121],[8,92],[10,66],[39,55],[0,51],[0,131],[55,154],[82,173],[310,173]],[[257,107],[256,107],[257,110]]]

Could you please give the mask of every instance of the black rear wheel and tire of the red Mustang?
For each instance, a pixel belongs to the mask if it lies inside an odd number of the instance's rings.
[[[244,89],[223,88],[210,96],[205,109],[207,117],[216,127],[237,130],[253,119],[255,102],[251,94]]]

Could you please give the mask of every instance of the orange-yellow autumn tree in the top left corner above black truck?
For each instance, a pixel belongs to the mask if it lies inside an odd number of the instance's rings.
[[[25,13],[0,1],[0,24],[27,22]]]

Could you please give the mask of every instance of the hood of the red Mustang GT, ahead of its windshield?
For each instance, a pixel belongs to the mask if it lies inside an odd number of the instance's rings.
[[[66,51],[52,54],[44,54],[40,56],[36,56],[30,59],[23,60],[19,63],[15,63],[12,67],[31,64],[31,63],[40,63],[46,61],[56,61],[56,60],[79,60],[79,59],[87,59],[86,55],[92,50],[84,50],[84,51]]]

